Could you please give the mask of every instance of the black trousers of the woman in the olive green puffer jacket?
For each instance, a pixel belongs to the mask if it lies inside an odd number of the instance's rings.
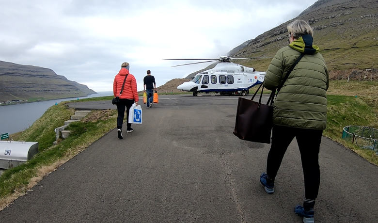
[[[307,199],[315,200],[320,185],[318,155],[322,133],[323,130],[273,125],[267,161],[268,176],[272,179],[276,177],[286,149],[296,137],[302,161],[305,196]]]

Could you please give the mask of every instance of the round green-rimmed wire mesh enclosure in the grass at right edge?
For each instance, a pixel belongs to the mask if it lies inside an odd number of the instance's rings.
[[[364,149],[371,149],[378,155],[378,129],[364,126],[346,126],[342,138],[356,143]]]

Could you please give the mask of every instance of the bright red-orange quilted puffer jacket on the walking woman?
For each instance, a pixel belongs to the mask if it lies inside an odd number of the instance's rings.
[[[128,72],[128,69],[126,68],[121,68],[118,74],[114,77],[113,95],[119,96],[126,74],[128,75],[125,81],[124,90],[120,98],[134,99],[134,101],[138,101],[139,97],[138,97],[138,90],[137,90],[137,81],[135,80],[135,77],[132,74],[130,74]]]

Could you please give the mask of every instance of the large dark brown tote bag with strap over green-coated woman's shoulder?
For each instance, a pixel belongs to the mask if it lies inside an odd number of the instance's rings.
[[[281,81],[281,84],[277,87],[277,94],[303,55],[304,54],[301,54],[296,62],[290,67],[290,70],[287,72],[283,81]],[[263,88],[261,89],[259,101],[255,102],[253,101],[253,98],[256,96],[261,86],[263,86]],[[264,83],[261,83],[256,92],[253,94],[251,100],[239,97],[237,103],[234,135],[241,140],[256,143],[270,143],[270,134],[273,126],[273,99],[276,89],[274,89],[270,94],[267,104],[261,104],[263,91]]]

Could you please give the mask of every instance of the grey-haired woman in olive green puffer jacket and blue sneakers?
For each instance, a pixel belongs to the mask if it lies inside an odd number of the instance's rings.
[[[320,184],[318,154],[327,122],[328,70],[319,48],[313,45],[313,30],[303,20],[287,26],[289,46],[278,50],[272,59],[264,86],[276,89],[301,54],[304,56],[284,82],[274,101],[272,143],[267,173],[260,176],[265,191],[274,192],[274,180],[287,147],[297,138],[301,155],[305,201],[295,212],[304,222],[314,221],[314,205]]]

